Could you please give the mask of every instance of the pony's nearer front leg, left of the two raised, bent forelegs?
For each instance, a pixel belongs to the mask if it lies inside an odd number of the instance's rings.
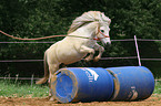
[[[81,53],[90,53],[90,55],[85,57],[85,61],[87,61],[87,62],[93,60],[93,55],[94,55],[94,53],[95,53],[93,49],[88,47],[88,46],[85,46],[85,45],[82,45],[82,46],[81,46],[80,52],[81,52]]]

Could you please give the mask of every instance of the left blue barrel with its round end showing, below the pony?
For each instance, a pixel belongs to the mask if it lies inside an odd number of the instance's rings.
[[[101,67],[60,68],[56,75],[51,92],[60,103],[109,100],[114,89],[112,75]]]

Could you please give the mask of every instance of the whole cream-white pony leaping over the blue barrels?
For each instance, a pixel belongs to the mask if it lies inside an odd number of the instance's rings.
[[[44,77],[37,84],[46,83],[49,76],[52,80],[61,63],[78,62],[88,53],[90,55],[85,57],[85,61],[90,61],[93,59],[94,51],[99,51],[99,55],[93,60],[99,61],[104,47],[99,45],[97,41],[101,41],[103,44],[111,43],[109,36],[110,22],[111,20],[100,11],[84,12],[77,18],[69,29],[68,35],[46,51]]]

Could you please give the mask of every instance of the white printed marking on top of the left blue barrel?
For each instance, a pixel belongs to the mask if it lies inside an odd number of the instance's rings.
[[[87,76],[89,77],[89,82],[97,81],[99,75],[95,73],[95,71],[91,68],[83,68],[85,71]]]

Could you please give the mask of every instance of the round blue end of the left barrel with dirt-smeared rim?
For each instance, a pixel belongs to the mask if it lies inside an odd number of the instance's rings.
[[[60,103],[73,102],[78,93],[76,75],[67,68],[59,70],[51,80],[51,93]]]

